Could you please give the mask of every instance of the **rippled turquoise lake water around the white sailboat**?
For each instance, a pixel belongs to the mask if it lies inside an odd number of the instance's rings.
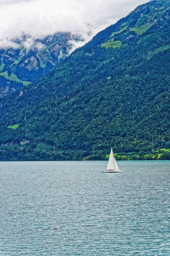
[[[0,256],[170,255],[170,161],[0,162]]]

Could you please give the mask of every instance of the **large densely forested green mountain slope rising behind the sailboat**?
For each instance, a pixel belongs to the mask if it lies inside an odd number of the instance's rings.
[[[0,160],[151,154],[170,146],[169,106],[170,3],[151,1],[0,99]]]

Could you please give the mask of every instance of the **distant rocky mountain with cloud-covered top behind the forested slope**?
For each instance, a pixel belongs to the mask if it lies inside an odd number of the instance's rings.
[[[0,49],[0,97],[48,74],[68,55],[72,40],[81,39],[71,33],[39,39],[25,35],[12,41],[13,48]]]

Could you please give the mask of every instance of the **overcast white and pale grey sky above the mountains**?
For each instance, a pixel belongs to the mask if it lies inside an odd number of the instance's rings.
[[[11,39],[23,34],[42,38],[58,31],[80,33],[89,41],[97,32],[148,1],[0,0],[0,48],[17,47]]]

